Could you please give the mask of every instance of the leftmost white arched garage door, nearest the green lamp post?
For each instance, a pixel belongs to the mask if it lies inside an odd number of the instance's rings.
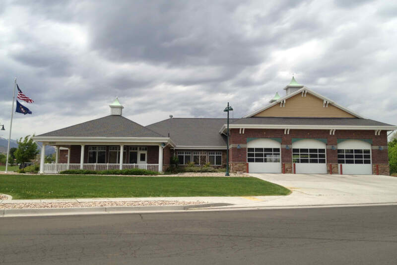
[[[281,173],[281,144],[260,138],[247,143],[247,162],[250,173]]]

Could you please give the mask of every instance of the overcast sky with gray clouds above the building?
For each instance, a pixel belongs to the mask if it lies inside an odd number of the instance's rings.
[[[301,84],[397,124],[397,2],[71,0],[0,3],[0,124],[13,78],[35,103],[12,138],[107,116],[234,117]]]

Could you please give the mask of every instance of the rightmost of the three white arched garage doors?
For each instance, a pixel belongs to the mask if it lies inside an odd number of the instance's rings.
[[[338,170],[339,174],[371,175],[371,144],[362,140],[345,140],[338,143]]]

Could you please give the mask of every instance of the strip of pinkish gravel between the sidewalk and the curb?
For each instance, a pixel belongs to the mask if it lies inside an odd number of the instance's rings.
[[[168,206],[203,204],[204,201],[91,201],[91,202],[32,202],[32,203],[1,203],[0,209],[37,209],[37,208],[69,208],[69,207],[103,207],[103,206]]]

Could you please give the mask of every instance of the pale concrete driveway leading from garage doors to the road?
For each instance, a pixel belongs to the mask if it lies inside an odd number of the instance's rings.
[[[250,175],[284,186],[290,189],[292,194],[289,196],[255,197],[260,201],[245,206],[397,204],[396,177],[260,173]]]

